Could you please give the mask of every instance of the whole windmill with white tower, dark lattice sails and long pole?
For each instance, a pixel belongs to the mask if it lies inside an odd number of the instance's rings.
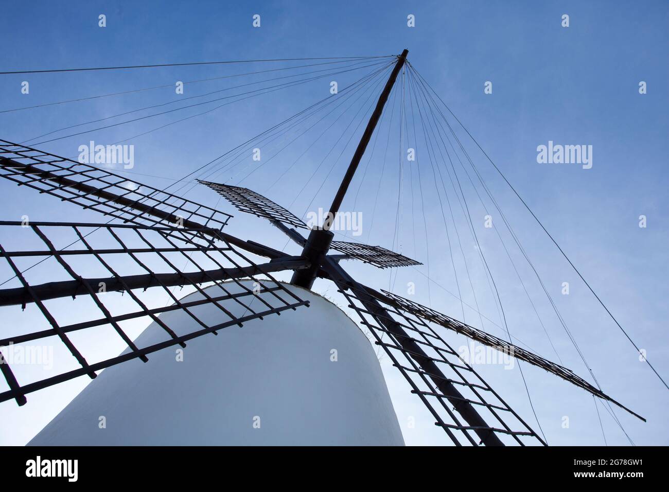
[[[642,418],[566,367],[409,299],[367,286],[355,280],[341,265],[343,260],[359,260],[377,268],[399,268],[419,264],[411,258],[381,246],[334,240],[334,234],[330,230],[381,118],[391,89],[405,65],[406,57],[407,50],[396,57],[347,172],[320,226],[310,228],[286,208],[251,189],[213,181],[199,181],[201,185],[227,199],[240,212],[269,220],[270,224],[302,248],[299,256],[290,256],[266,244],[242,240],[227,234],[224,229],[231,216],[215,208],[90,164],[79,163],[19,143],[0,141],[2,177],[17,185],[58,197],[62,201],[112,218],[106,223],[32,220],[27,223],[0,222],[0,228],[5,230],[22,228],[23,232],[27,230],[32,235],[31,240],[25,240],[23,234],[21,247],[0,245],[0,256],[21,284],[16,288],[0,290],[0,306],[20,306],[23,309],[29,307],[33,312],[38,312],[48,325],[46,329],[39,331],[4,337],[0,340],[0,347],[58,337],[76,361],[76,367],[58,376],[21,384],[11,370],[11,364],[3,360],[0,369],[9,389],[0,392],[0,402],[13,399],[22,406],[27,402],[26,395],[31,392],[80,376],[95,379],[100,370],[112,368],[102,373],[100,379],[104,379],[104,382],[90,384],[82,395],[38,434],[33,440],[34,444],[64,442],[66,434],[84,439],[85,432],[76,427],[77,422],[87,408],[100,400],[112,398],[113,395],[109,394],[112,391],[120,392],[128,398],[135,398],[132,402],[124,400],[117,403],[123,407],[118,413],[120,418],[131,418],[133,411],[145,408],[150,404],[147,394],[151,393],[151,384],[171,384],[170,380],[161,378],[167,374],[163,372],[167,371],[165,357],[159,363],[151,365],[153,356],[161,356],[161,353],[165,353],[165,349],[169,347],[183,349],[191,341],[195,343],[206,339],[208,335],[220,335],[226,328],[231,328],[230,333],[243,336],[245,329],[251,331],[250,327],[253,327],[254,343],[264,343],[263,337],[270,339],[270,335],[258,333],[257,328],[262,325],[273,325],[275,331],[284,327],[288,333],[292,333],[290,335],[292,337],[308,336],[304,332],[306,328],[302,318],[304,315],[300,313],[309,310],[318,311],[317,317],[323,317],[322,313],[325,311],[332,313],[335,318],[334,325],[345,323],[322,299],[318,299],[310,291],[316,278],[328,280],[337,286],[338,291],[347,299],[349,308],[359,317],[361,325],[368,329],[375,339],[375,344],[385,351],[393,366],[405,378],[411,387],[411,393],[421,400],[434,416],[436,426],[446,432],[456,445],[500,446],[527,443],[545,445],[546,442],[478,375],[474,367],[464,361],[447,343],[444,333],[448,331],[459,333],[478,343],[508,353],[518,360],[541,367],[593,396]],[[298,230],[306,230],[308,235],[300,234]],[[96,232],[96,236],[93,236],[92,232]],[[68,250],[56,248],[52,237],[57,234],[72,237],[78,248]],[[11,234],[3,236],[10,237]],[[96,238],[96,241],[93,238]],[[35,246],[26,249],[26,244]],[[250,255],[266,258],[266,261],[255,262]],[[110,257],[122,258],[123,261],[112,261],[108,259]],[[180,268],[179,262],[174,260],[175,257],[181,258],[181,261],[186,260],[191,268]],[[25,276],[25,270],[18,264],[20,258],[35,260],[52,258],[60,266],[64,277],[54,278],[48,282],[40,281],[37,284],[30,282]],[[74,265],[75,262],[78,262],[80,268]],[[100,273],[96,276],[84,275],[84,272],[90,271]],[[284,284],[272,277],[273,273],[285,271],[293,272],[290,284]],[[203,286],[203,284],[210,285]],[[191,294],[179,299],[173,292],[175,286],[187,286]],[[165,307],[149,307],[144,300],[145,293],[154,290],[167,293],[172,304]],[[111,303],[118,302],[118,295],[122,295],[124,303],[134,307],[122,313],[114,312]],[[110,299],[112,297],[114,299]],[[74,301],[85,299],[100,314],[90,319],[61,323],[49,309],[49,304],[50,301],[72,302],[68,298]],[[318,305],[318,308],[314,309],[314,305]],[[341,315],[345,318],[343,313]],[[280,322],[272,321],[279,317]],[[133,341],[124,327],[128,323],[137,322],[151,323],[151,326],[147,332]],[[233,328],[235,325],[242,328]],[[117,357],[90,363],[73,343],[72,335],[102,327],[112,329],[122,338],[127,348]],[[313,332],[319,327],[310,326],[308,329]],[[329,326],[327,321],[323,321],[322,330],[323,333],[337,333],[337,327]],[[272,333],[272,337],[276,337],[276,333]],[[293,343],[294,340],[289,342],[276,338],[271,340],[272,343],[285,343],[279,349],[294,349],[295,351],[290,353],[299,357],[302,347]],[[140,341],[146,343],[139,343]],[[205,342],[205,345],[214,343],[215,341]],[[355,343],[351,342],[351,345]],[[234,349],[234,347],[227,348]],[[270,350],[271,347],[265,349]],[[365,373],[365,377],[361,378],[365,383],[357,390],[371,392],[375,396],[377,406],[369,408],[365,405],[367,400],[358,402],[363,414],[359,415],[359,427],[354,428],[353,432],[355,434],[366,432],[359,442],[361,444],[401,444],[397,422],[396,420],[391,422],[394,418],[392,406],[389,404],[383,380],[379,381],[378,367],[376,374],[367,374],[373,372],[369,369],[367,360],[369,350],[367,353],[363,349],[359,352],[355,350],[357,349],[352,348],[351,353],[359,356],[360,360],[351,366],[351,374]],[[213,364],[219,371],[213,376],[207,375],[210,378],[220,378],[220,371],[226,369],[234,371],[236,367],[237,372],[230,376],[241,380],[244,380],[246,373],[252,371],[251,367],[262,364],[262,350],[256,356],[248,353],[234,355],[234,351],[228,355],[236,357],[235,365],[225,367],[217,365],[219,362],[223,363],[218,360],[201,361],[197,366],[199,377],[204,376],[201,374],[202,371],[207,371],[207,363]],[[172,353],[169,354],[169,358],[173,359]],[[145,364],[138,364],[138,361]],[[126,370],[125,367],[131,369]],[[300,387],[304,381],[295,379],[304,378],[304,373],[309,371],[309,367],[298,367],[298,370],[282,368],[282,371],[285,371],[279,375],[282,380],[291,380],[295,383],[291,398],[304,395],[304,400],[290,402],[296,412],[300,405],[308,406],[306,400],[313,401],[324,396],[322,388],[318,389],[318,385],[305,390]],[[142,372],[147,374],[148,382],[142,383],[145,379]],[[351,374],[347,378],[351,378]],[[368,376],[369,380],[365,379]],[[179,384],[185,387],[188,382]],[[290,385],[284,386],[284,389],[288,386]],[[357,398],[353,396],[355,392],[352,392],[351,388],[343,384],[339,391],[341,392],[339,397],[346,400],[339,402],[339,410],[348,404],[355,405],[355,402],[349,400]],[[234,398],[240,396],[240,393],[231,391],[229,394],[223,394],[223,398],[226,396]],[[198,391],[191,396],[196,399],[199,397],[203,396]],[[221,396],[217,398],[214,401],[220,402]],[[271,397],[266,395],[266,398],[276,398],[276,395],[272,394]],[[175,405],[175,407],[181,408],[165,409],[163,415],[153,414],[148,418],[159,423],[156,428],[150,429],[156,438],[153,443],[162,442],[158,436],[169,434],[170,429],[165,428],[169,422],[178,422],[186,418],[207,420],[215,418],[215,412],[219,410],[213,408],[209,410],[211,412],[209,416],[198,414],[194,417],[193,414],[188,415],[189,412],[193,412],[192,406]],[[197,410],[207,412],[206,408],[198,407]],[[262,418],[258,417],[259,420]],[[332,427],[341,429],[341,422],[338,424],[336,420],[336,415],[330,416]],[[197,422],[192,425],[195,424]],[[298,425],[295,422],[293,424]],[[185,426],[181,430],[186,433],[192,432],[192,425]],[[290,428],[289,425],[287,427]],[[327,425],[322,424],[322,427]],[[130,438],[130,435],[137,432],[139,432],[137,428],[129,428],[126,437]],[[200,429],[198,432],[202,433],[198,434],[200,438],[205,440],[203,435],[205,431]],[[317,438],[316,442],[331,443],[332,441],[328,440],[331,434],[332,431],[324,430],[324,434],[318,436],[322,440],[318,441]],[[245,436],[247,434],[239,434],[235,438],[242,440],[246,438]],[[272,439],[270,443],[286,442],[285,434],[280,432],[272,434],[270,439]]]

